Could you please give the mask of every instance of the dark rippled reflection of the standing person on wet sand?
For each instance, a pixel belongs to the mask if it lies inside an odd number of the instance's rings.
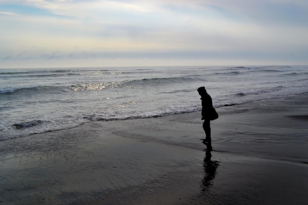
[[[212,154],[211,151],[206,151],[204,158],[203,169],[204,169],[204,178],[202,179],[201,192],[206,193],[213,185],[213,179],[216,175],[216,169],[219,166],[218,161],[211,160]]]

